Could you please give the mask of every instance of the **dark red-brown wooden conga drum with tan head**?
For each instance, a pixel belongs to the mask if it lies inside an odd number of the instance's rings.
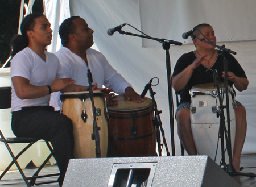
[[[112,157],[156,156],[152,100],[136,103],[123,95],[117,99],[118,105],[108,107]]]

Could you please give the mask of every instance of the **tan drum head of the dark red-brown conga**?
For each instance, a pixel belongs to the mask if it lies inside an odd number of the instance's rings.
[[[144,99],[143,102],[133,102],[128,101],[123,95],[118,95],[117,97],[118,105],[108,106],[109,111],[133,111],[133,110],[143,110],[151,107],[152,99]]]

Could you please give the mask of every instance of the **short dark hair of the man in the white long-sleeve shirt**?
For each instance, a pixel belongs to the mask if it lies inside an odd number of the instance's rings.
[[[73,23],[74,19],[80,18],[80,16],[71,16],[68,19],[65,19],[59,29],[59,35],[61,39],[61,44],[65,47],[69,42],[69,34],[76,33],[76,26]]]

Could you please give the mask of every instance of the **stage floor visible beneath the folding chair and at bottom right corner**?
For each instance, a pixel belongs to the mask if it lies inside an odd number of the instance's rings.
[[[256,155],[242,155],[241,157],[241,165],[240,167],[243,167],[244,169],[241,171],[243,173],[254,173],[256,174]],[[24,173],[26,176],[32,176],[32,174],[35,172],[35,168],[26,168],[24,169]],[[43,168],[41,174],[52,174],[59,172],[59,169],[56,165],[47,165]],[[0,172],[1,174],[2,172]],[[256,187],[256,178],[254,177],[247,177],[247,176],[234,176],[234,180],[236,180],[242,187]],[[40,181],[46,181],[48,178],[39,179]],[[38,180],[38,181],[39,181]],[[57,177],[52,177],[51,180],[57,180]],[[2,178],[0,181],[0,186],[6,186],[6,187],[23,187],[26,186],[24,183],[22,177],[20,176],[20,173],[18,171],[10,171]],[[53,184],[46,184],[46,185],[40,185],[40,186],[59,186],[57,183]]]

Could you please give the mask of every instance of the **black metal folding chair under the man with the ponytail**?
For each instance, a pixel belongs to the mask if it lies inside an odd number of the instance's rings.
[[[11,87],[0,87],[0,109],[8,109],[11,107]],[[47,175],[43,175],[43,176],[38,176],[39,172],[42,170],[42,168],[44,167],[44,165],[46,165],[46,163],[49,161],[49,159],[53,156],[53,149],[51,147],[51,145],[49,144],[49,142],[45,141],[44,142],[47,144],[47,147],[49,148],[49,155],[47,157],[46,160],[44,160],[43,164],[36,170],[36,172],[33,174],[32,177],[26,177],[24,172],[22,171],[22,168],[20,167],[19,163],[18,163],[18,158],[27,151],[28,148],[30,148],[34,143],[38,142],[39,139],[35,139],[35,138],[17,138],[17,137],[12,137],[12,138],[6,138],[5,136],[3,136],[3,133],[0,129],[0,141],[3,142],[6,146],[6,148],[8,149],[11,157],[12,157],[12,161],[11,163],[8,165],[8,167],[5,169],[5,171],[3,171],[3,173],[0,176],[0,180],[2,179],[2,177],[6,174],[7,171],[9,171],[9,169],[11,168],[11,166],[15,163],[16,167],[18,168],[20,174],[23,177],[23,180],[26,182],[27,186],[33,186],[35,185],[40,185],[40,184],[49,184],[49,183],[53,183],[53,182],[57,182],[56,180],[54,181],[46,181],[46,182],[38,182],[36,183],[36,179],[37,178],[44,178],[44,177],[52,177],[52,176],[59,176],[60,173],[55,173],[55,174],[47,174]],[[24,147],[22,149],[22,151],[20,151],[18,153],[18,155],[14,155],[13,151],[11,150],[9,144],[14,144],[14,143],[28,143],[26,147]]]

